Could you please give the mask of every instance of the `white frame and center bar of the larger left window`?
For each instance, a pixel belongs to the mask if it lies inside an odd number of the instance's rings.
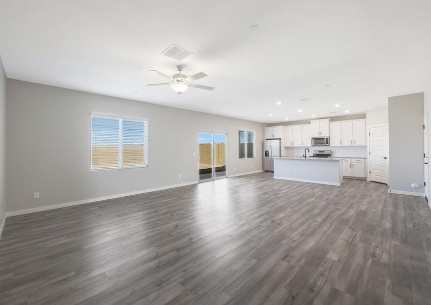
[[[92,124],[92,117],[96,116],[96,117],[103,117],[103,118],[114,118],[114,119],[118,119],[119,123],[118,123],[118,128],[119,128],[119,167],[114,167],[114,168],[96,168],[93,169],[93,145],[92,145],[92,135],[93,135],[93,124]],[[144,133],[144,163],[145,165],[131,165],[131,166],[123,166],[122,165],[122,155],[123,155],[123,143],[122,143],[122,135],[123,135],[123,130],[122,130],[122,121],[123,120],[128,120],[128,121],[138,121],[138,122],[143,122],[144,125],[146,125],[146,133]],[[101,170],[118,170],[118,169],[128,169],[128,168],[145,168],[148,167],[148,126],[149,126],[149,119],[148,118],[140,118],[140,117],[130,117],[130,116],[121,116],[121,115],[114,115],[114,114],[104,114],[104,113],[90,113],[90,171],[101,171]]]

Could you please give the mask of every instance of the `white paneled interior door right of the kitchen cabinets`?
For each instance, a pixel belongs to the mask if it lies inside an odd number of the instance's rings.
[[[370,128],[370,180],[389,183],[387,126]]]

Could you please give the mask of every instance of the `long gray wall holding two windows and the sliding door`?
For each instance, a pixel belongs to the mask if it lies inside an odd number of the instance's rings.
[[[198,131],[228,133],[229,175],[262,169],[260,123],[11,79],[7,89],[8,211],[196,181]],[[149,167],[91,171],[91,112],[149,118]],[[256,158],[238,159],[239,129],[256,131]]]

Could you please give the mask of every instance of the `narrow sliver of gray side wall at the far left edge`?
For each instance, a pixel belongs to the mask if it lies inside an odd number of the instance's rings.
[[[0,57],[0,230],[6,215],[6,75]]]

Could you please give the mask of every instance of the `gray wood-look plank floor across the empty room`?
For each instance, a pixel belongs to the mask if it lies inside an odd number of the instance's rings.
[[[10,217],[2,304],[431,304],[423,198],[270,173]]]

